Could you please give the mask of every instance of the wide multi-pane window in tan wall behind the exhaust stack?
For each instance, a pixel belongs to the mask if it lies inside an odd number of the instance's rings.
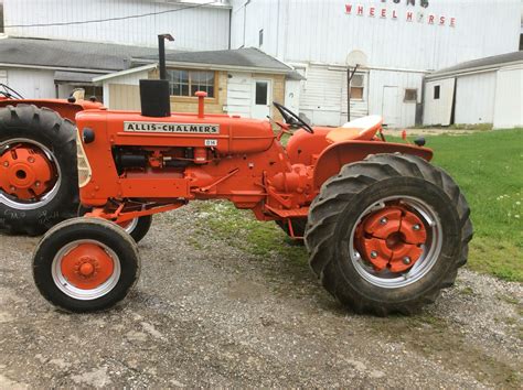
[[[199,90],[214,97],[214,72],[168,69],[169,89],[171,96],[194,96]]]

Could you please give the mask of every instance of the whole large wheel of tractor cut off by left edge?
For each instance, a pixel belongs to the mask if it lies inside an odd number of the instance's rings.
[[[31,236],[75,216],[74,124],[47,108],[0,109],[0,230]]]

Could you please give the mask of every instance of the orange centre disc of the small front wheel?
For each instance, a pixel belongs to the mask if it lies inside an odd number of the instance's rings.
[[[81,243],[62,259],[62,274],[75,288],[89,290],[104,284],[114,272],[113,258],[95,243]]]

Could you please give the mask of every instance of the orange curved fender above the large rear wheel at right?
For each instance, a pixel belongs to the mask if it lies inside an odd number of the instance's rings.
[[[338,174],[343,165],[381,153],[413,154],[426,161],[433,159],[433,150],[406,143],[360,140],[337,142],[318,156],[313,174],[314,188],[321,187],[323,182]]]

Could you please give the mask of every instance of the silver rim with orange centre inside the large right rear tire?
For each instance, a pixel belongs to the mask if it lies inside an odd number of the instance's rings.
[[[349,261],[369,283],[398,289],[424,278],[439,261],[441,221],[418,197],[389,196],[369,205],[352,226]]]

